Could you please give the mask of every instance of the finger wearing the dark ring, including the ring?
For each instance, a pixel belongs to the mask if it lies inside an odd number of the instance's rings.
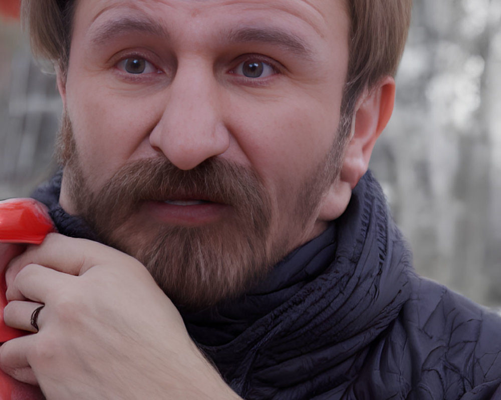
[[[43,326],[43,306],[33,301],[11,301],[5,307],[4,319],[9,326],[36,333]]]

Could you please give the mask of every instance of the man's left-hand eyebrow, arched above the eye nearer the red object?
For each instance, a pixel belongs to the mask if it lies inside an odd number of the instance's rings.
[[[92,33],[91,41],[94,44],[103,44],[114,36],[119,36],[124,33],[148,33],[164,38],[169,37],[169,33],[163,25],[146,16],[138,17],[122,17],[109,21],[99,26]]]

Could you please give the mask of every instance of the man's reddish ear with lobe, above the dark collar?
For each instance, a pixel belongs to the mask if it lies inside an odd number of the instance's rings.
[[[372,149],[391,117],[394,102],[395,80],[391,76],[364,90],[359,97],[341,173],[322,199],[320,221],[336,219],[345,211],[353,188],[369,168]]]

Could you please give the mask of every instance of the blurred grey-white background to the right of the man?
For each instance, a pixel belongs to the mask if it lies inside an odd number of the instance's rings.
[[[420,273],[501,304],[501,0],[414,2],[371,167]]]

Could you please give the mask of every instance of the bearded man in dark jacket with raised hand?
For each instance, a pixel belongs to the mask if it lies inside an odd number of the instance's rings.
[[[414,274],[366,173],[410,1],[24,6],[60,234],[10,262],[35,334],[2,369],[49,399],[501,396],[501,320]]]

